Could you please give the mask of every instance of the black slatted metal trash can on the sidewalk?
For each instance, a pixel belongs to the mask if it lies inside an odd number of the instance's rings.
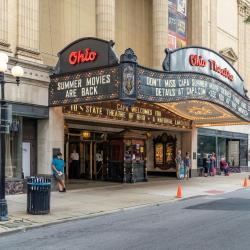
[[[48,214],[50,212],[51,180],[45,177],[27,179],[27,213]]]

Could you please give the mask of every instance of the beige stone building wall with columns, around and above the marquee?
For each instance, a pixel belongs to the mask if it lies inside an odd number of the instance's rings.
[[[244,23],[250,2],[187,3],[188,45],[222,53],[240,72],[250,92],[250,24]],[[6,98],[47,106],[49,74],[57,62],[57,53],[81,37],[113,39],[118,54],[131,47],[140,64],[161,69],[167,27],[167,0],[1,0],[0,50],[10,56],[6,76],[11,79],[10,69],[15,64],[22,65],[25,71],[22,86],[6,86]],[[50,120],[38,122],[38,173],[50,171],[53,148],[64,150],[63,119],[60,109],[50,108]],[[61,124],[55,125],[56,121]],[[245,132],[241,127],[237,131]]]

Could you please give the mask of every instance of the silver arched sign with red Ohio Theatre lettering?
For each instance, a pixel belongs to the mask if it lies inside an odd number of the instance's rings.
[[[185,47],[166,50],[163,68],[170,72],[194,72],[212,76],[245,95],[244,81],[221,55],[207,48]]]

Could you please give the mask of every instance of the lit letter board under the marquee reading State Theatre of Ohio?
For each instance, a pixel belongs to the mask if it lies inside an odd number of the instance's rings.
[[[192,122],[164,108],[147,103],[136,103],[132,107],[122,102],[105,102],[94,104],[73,104],[64,106],[67,114],[83,115],[96,118],[127,121],[133,123],[154,124],[179,128],[192,128]]]

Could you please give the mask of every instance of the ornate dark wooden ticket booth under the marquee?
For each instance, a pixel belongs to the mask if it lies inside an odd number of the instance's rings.
[[[132,131],[109,137],[109,161],[107,179],[134,183],[147,181],[146,135]]]

